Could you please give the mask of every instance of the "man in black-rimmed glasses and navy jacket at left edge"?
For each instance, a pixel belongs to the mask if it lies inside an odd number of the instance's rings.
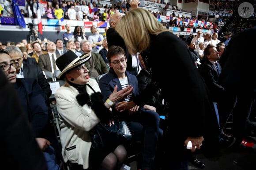
[[[19,67],[19,63],[14,62],[6,51],[0,51],[0,63],[0,69],[15,87],[19,102],[21,102],[34,131],[36,141],[44,153],[48,169],[59,170],[55,150],[49,141],[49,131],[46,131],[49,115],[44,92],[35,79],[16,79],[16,69]],[[24,151],[24,154],[26,152]]]

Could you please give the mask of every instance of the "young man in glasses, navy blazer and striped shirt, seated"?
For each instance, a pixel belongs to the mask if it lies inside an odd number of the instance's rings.
[[[113,92],[114,87],[122,90],[131,85],[133,91],[125,98],[125,101],[132,101],[132,97],[139,94],[138,80],[135,75],[126,71],[126,56],[123,48],[111,46],[107,53],[109,60],[109,73],[99,80],[99,87],[105,99]],[[117,112],[115,106],[113,112]],[[154,169],[155,156],[157,152],[158,135],[162,136],[162,130],[159,129],[160,118],[155,112],[154,106],[144,105],[143,108],[135,106],[124,112],[117,112],[120,119],[124,119],[130,128],[134,141],[143,141],[141,143],[142,159],[138,160],[140,169]],[[145,119],[145,117],[147,119]],[[129,149],[128,149],[129,150]]]

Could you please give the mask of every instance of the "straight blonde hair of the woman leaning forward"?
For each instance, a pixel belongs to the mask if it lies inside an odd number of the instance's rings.
[[[133,8],[120,18],[116,31],[124,39],[129,53],[137,54],[137,52],[148,50],[150,35],[158,35],[169,29],[165,29],[149,11]]]

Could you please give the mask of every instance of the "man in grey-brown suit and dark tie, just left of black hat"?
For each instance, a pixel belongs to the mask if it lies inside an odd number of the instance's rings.
[[[55,61],[60,55],[56,54],[56,44],[50,41],[47,44],[47,54],[41,54],[38,59],[38,65],[45,72],[47,80],[54,80],[54,72],[59,70]]]

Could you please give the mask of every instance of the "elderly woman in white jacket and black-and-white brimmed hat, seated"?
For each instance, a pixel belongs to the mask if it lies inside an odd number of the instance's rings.
[[[78,57],[74,52],[68,51],[56,59],[60,69],[59,79],[65,80],[55,95],[56,107],[62,124],[60,125],[60,141],[64,161],[72,163],[77,169],[106,169],[114,170],[121,166],[126,159],[126,150],[123,145],[113,145],[106,149],[91,147],[90,130],[100,121],[113,123],[110,115],[103,115],[92,109],[90,95],[101,92],[96,80],[91,79],[89,70],[84,65],[90,59],[90,53]],[[109,110],[116,101],[125,98],[132,92],[133,87],[127,87],[109,96],[102,105]],[[96,106],[97,107],[97,106]],[[95,108],[95,106],[94,106]]]

